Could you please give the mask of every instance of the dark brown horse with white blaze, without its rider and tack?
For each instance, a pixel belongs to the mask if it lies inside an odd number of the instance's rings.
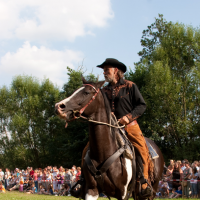
[[[70,97],[55,105],[56,113],[66,120],[66,125],[67,121],[74,118],[74,113],[77,112],[79,115],[82,114],[82,116],[94,121],[109,123],[106,100],[100,90],[104,81],[88,83],[83,79],[83,84]],[[162,176],[164,160],[156,144],[150,139],[148,141],[159,155],[159,158],[154,160],[154,181],[151,183],[154,194],[150,197],[150,199],[153,199],[159,179]],[[97,170],[99,166],[105,163],[118,150],[115,134],[112,134],[110,127],[104,124],[89,122],[89,144],[89,157]],[[123,200],[127,196],[128,186],[132,182],[132,177],[136,177],[136,171],[132,171],[131,160],[122,155],[115,159],[108,170],[102,175],[103,186],[97,183],[97,179],[92,175],[86,162],[82,166],[82,173],[86,180],[84,187],[86,200],[96,200],[100,192],[104,192],[107,196]],[[136,183],[136,180],[134,182]],[[136,191],[135,188],[133,190]],[[136,197],[137,195],[134,196]]]

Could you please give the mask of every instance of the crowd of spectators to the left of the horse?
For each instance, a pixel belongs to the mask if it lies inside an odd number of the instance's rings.
[[[71,188],[78,182],[81,168],[75,165],[71,168],[47,166],[44,169],[18,169],[10,171],[0,169],[0,192],[19,190],[28,194],[46,194],[70,196]],[[77,185],[76,189],[78,189]]]

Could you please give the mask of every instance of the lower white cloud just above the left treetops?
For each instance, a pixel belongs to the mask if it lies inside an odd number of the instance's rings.
[[[40,79],[49,78],[62,87],[67,82],[67,70],[83,61],[81,52],[72,50],[51,50],[44,46],[40,48],[25,42],[15,53],[6,53],[0,60],[0,77],[16,75],[32,75]]]

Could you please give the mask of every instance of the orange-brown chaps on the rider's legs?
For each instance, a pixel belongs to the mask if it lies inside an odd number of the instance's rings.
[[[142,135],[142,131],[140,130],[140,127],[136,121],[134,121],[134,123],[132,122],[129,125],[127,125],[125,127],[125,130],[128,133],[127,135],[128,139],[130,140],[132,145],[138,150],[138,152],[142,157],[144,178],[148,180],[149,152],[144,136]],[[89,142],[87,143],[86,147],[83,150],[82,166],[83,166],[83,159],[86,155],[88,147],[89,147]],[[143,184],[142,188],[145,189],[146,186],[147,184]]]

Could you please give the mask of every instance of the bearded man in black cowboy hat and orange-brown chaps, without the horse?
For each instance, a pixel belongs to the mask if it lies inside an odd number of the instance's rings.
[[[107,58],[97,67],[104,70],[105,81],[109,84],[103,88],[103,91],[106,93],[110,102],[112,113],[121,125],[125,125],[128,139],[138,150],[142,158],[143,175],[147,182],[149,151],[142,131],[136,121],[144,113],[146,103],[136,84],[124,79],[126,66],[123,63],[113,58]],[[89,144],[83,151],[83,158],[85,157],[88,146]],[[147,183],[142,184],[141,196],[145,198],[151,196],[151,190]]]

